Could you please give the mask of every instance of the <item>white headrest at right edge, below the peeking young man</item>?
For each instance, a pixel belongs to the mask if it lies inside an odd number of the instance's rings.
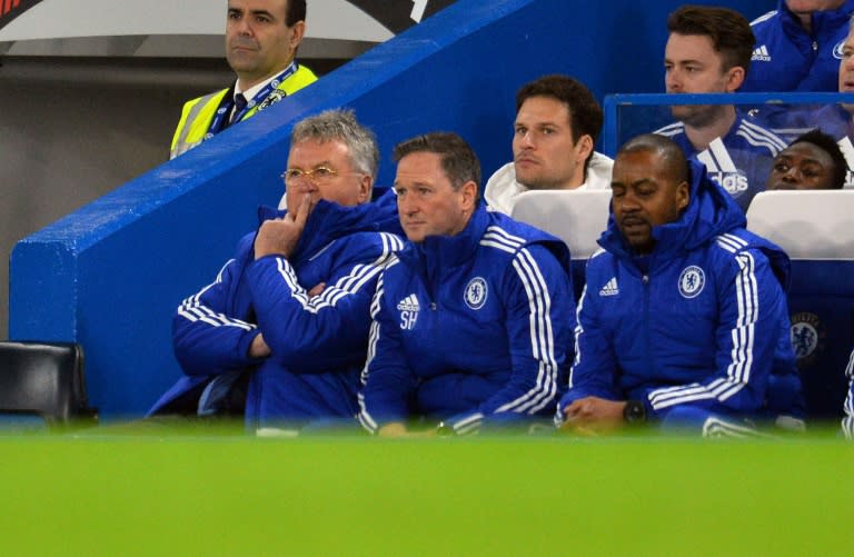
[[[747,229],[792,259],[854,259],[854,190],[764,191],[751,201]]]

